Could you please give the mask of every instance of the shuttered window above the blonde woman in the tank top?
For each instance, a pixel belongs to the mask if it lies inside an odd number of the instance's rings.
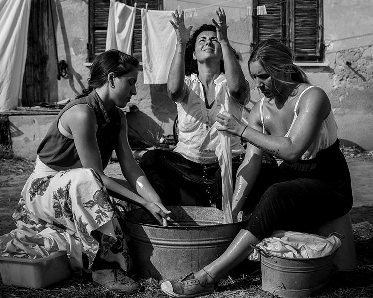
[[[276,38],[296,62],[323,61],[323,0],[253,0],[253,8],[260,5],[267,14],[253,15],[254,44]]]

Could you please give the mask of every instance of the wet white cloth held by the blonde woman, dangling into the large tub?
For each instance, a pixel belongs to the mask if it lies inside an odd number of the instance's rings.
[[[221,112],[229,112],[228,101],[225,100],[221,105]],[[219,145],[216,147],[215,154],[218,157],[221,168],[221,189],[222,189],[222,210],[223,223],[233,223],[232,217],[232,196],[233,196],[233,178],[232,178],[232,148],[231,134],[224,131],[218,131],[220,139]]]

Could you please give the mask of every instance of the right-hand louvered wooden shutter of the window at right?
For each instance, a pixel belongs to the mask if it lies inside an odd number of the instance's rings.
[[[294,1],[295,61],[322,59],[322,1]]]

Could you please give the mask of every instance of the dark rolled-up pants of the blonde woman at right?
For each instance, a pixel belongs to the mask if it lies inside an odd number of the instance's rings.
[[[353,203],[350,172],[339,140],[311,160],[262,167],[256,181],[244,205],[252,211],[245,229],[259,240],[274,230],[314,233],[348,213]]]

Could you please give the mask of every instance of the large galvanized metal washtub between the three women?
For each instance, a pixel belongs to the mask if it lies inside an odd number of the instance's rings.
[[[133,269],[157,280],[196,272],[219,257],[246,224],[222,224],[222,211],[213,207],[168,206],[175,221],[153,224],[143,209],[125,214]]]

